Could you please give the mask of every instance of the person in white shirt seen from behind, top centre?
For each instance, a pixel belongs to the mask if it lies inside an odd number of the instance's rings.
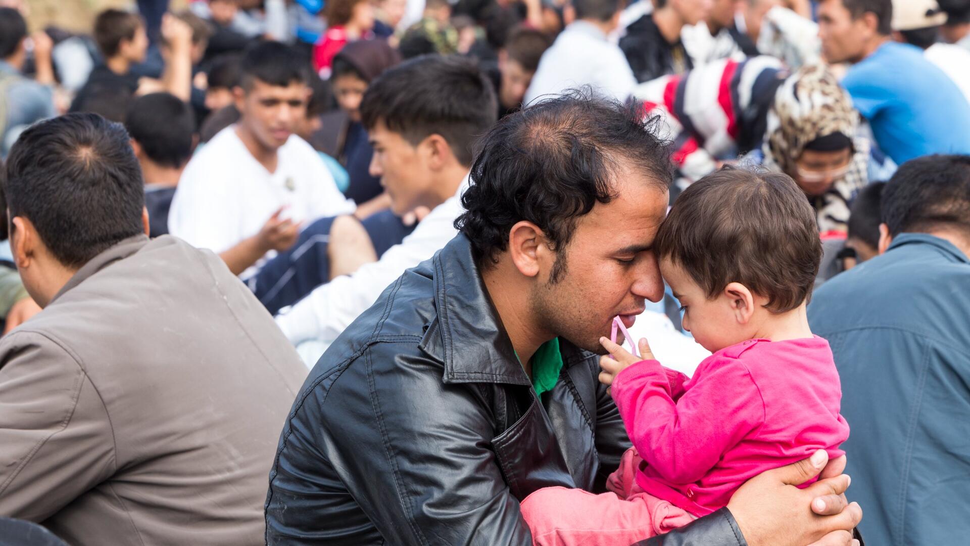
[[[576,20],[542,53],[523,103],[584,85],[601,96],[627,100],[636,78],[627,56],[609,38],[620,24],[623,5],[620,0],[573,0]]]

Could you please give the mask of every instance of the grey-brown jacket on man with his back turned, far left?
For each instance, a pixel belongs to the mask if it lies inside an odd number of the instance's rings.
[[[122,241],[0,340],[0,515],[74,545],[260,544],[306,375],[217,256]]]

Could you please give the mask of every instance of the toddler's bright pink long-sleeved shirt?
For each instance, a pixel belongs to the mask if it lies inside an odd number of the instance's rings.
[[[645,461],[636,483],[697,517],[764,470],[818,449],[842,456],[849,437],[832,352],[818,336],[732,345],[691,379],[643,360],[617,375],[612,392]]]

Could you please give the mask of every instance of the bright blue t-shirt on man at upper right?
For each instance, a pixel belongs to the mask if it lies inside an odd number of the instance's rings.
[[[842,85],[897,164],[927,154],[970,154],[970,103],[922,50],[887,42]]]

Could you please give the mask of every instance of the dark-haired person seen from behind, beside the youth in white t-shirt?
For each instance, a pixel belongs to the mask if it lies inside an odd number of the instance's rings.
[[[195,116],[178,97],[151,93],[132,102],[124,125],[145,179],[148,236],[165,235],[178,178],[195,148]]]

